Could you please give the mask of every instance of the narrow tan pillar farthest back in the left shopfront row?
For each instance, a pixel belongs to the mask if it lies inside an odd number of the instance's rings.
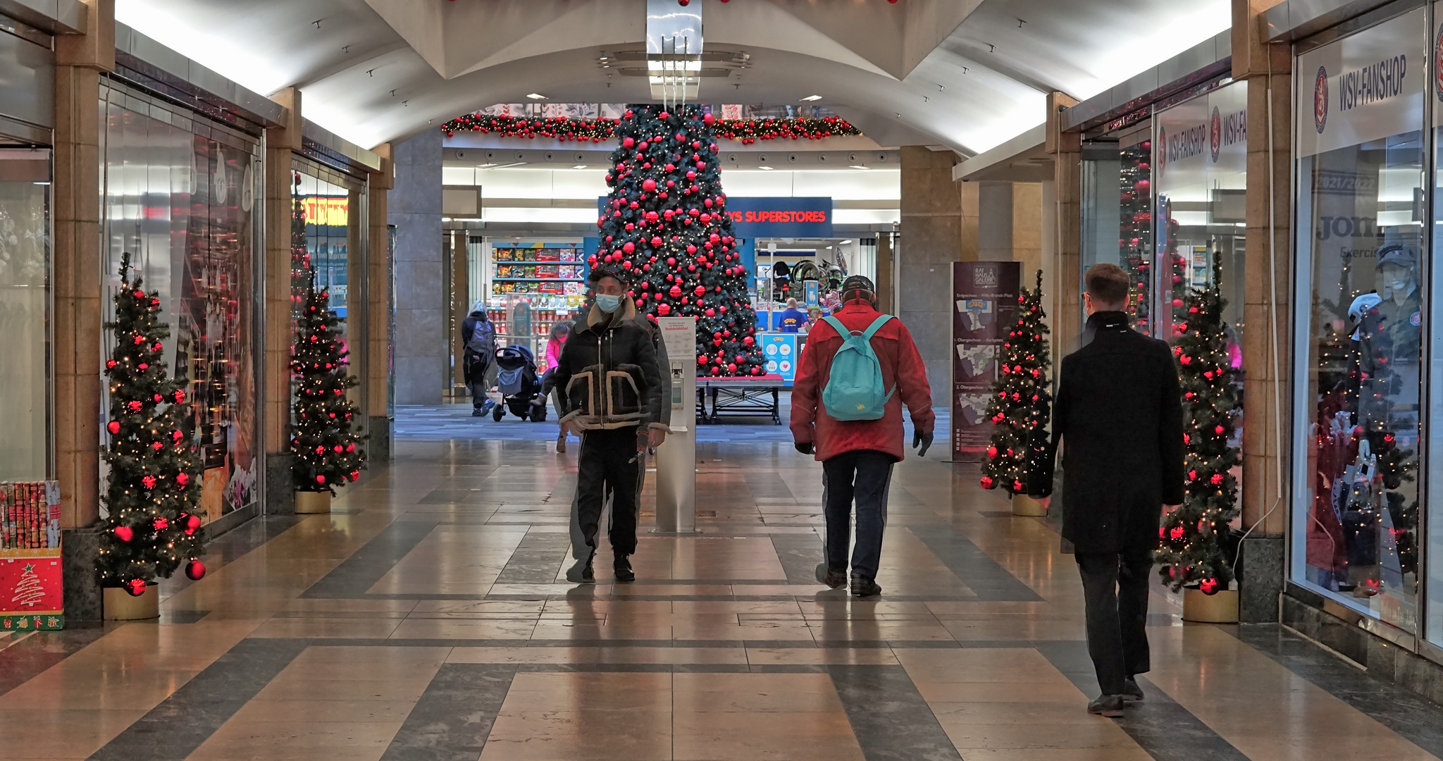
[[[367,308],[367,429],[371,432],[367,456],[371,462],[391,459],[391,410],[388,404],[391,384],[391,234],[387,227],[387,191],[395,185],[395,165],[391,162],[391,143],[372,149],[381,156],[381,170],[371,173],[371,225],[368,244],[371,247],[369,306]]]

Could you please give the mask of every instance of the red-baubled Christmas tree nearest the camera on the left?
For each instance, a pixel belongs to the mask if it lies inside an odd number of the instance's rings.
[[[102,586],[141,595],[156,578],[169,578],[182,560],[199,579],[205,534],[195,505],[201,461],[186,435],[190,417],[185,391],[166,371],[160,296],[130,279],[130,254],[121,256],[115,295],[115,348],[105,361],[110,378],[110,477],[102,498],[108,510],[97,566]]]

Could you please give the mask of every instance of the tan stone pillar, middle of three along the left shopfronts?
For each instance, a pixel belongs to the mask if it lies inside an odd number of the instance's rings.
[[[266,511],[294,511],[290,477],[290,157],[300,149],[300,90],[271,95],[286,107],[284,127],[266,130],[266,354],[261,373],[261,443],[266,446]]]

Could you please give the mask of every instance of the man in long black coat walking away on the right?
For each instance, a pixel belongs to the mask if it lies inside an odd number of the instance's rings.
[[[1085,277],[1082,348],[1062,360],[1052,442],[1029,478],[1046,504],[1062,439],[1062,536],[1076,547],[1087,640],[1102,695],[1088,712],[1121,716],[1149,670],[1147,580],[1162,507],[1183,498],[1182,391],[1167,344],[1127,326],[1128,277]]]

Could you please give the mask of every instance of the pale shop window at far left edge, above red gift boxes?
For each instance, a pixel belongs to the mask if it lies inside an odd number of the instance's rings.
[[[0,149],[0,481],[49,477],[51,152]]]

